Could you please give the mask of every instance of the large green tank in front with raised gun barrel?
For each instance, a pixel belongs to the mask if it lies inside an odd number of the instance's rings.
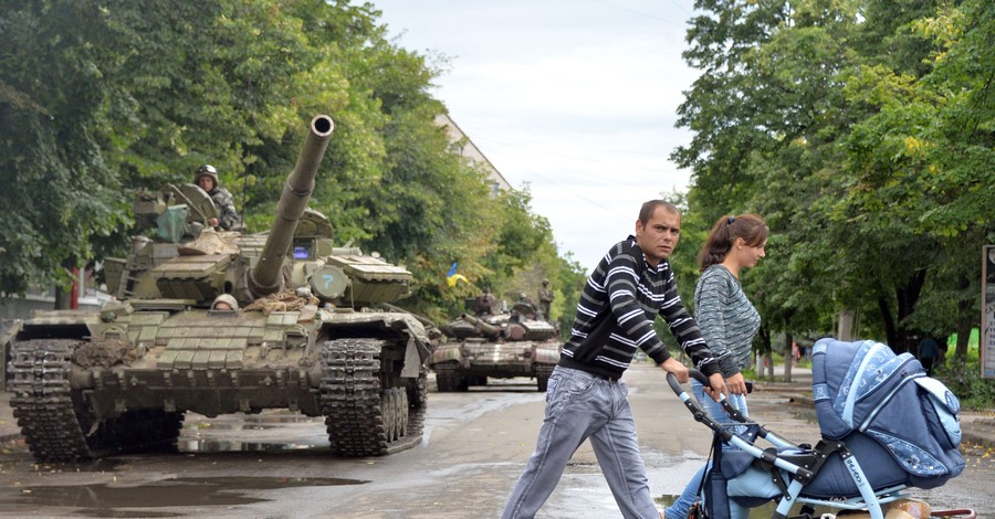
[[[187,411],[324,416],[345,457],[421,442],[436,336],[388,305],[411,273],[335,246],[306,208],[333,126],[311,121],[268,232],[206,227],[217,208],[195,184],[145,192],[135,213],[154,235],[105,261],[116,300],[8,330],[10,402],[38,460],[175,448]]]

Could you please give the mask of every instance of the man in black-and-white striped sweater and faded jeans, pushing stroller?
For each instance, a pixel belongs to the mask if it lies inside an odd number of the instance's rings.
[[[657,315],[709,377],[716,391],[713,396],[729,394],[698,324],[681,304],[667,261],[680,229],[681,213],[673,204],[646,202],[636,236],[612,246],[588,278],[570,339],[549,377],[536,449],[512,490],[503,519],[534,517],[588,438],[622,516],[661,517],[639,454],[628,388],[619,380],[638,348],[681,383],[688,381],[688,368],[670,356],[653,330]]]

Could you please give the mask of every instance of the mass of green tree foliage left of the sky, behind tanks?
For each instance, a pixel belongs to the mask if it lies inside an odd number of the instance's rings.
[[[438,63],[371,4],[14,0],[0,8],[0,294],[119,253],[139,188],[218,168],[250,231],[272,220],[306,123],[335,120],[312,206],[341,243],[406,265],[436,318],[480,286],[578,271],[525,193],[491,198],[436,117]],[[472,286],[448,287],[458,262]],[[531,290],[530,290],[531,292]]]

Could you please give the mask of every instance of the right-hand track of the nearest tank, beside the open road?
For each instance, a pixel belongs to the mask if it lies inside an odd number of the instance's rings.
[[[337,339],[322,349],[322,413],[337,456],[384,456],[421,443],[427,370],[421,367],[413,386],[402,385],[404,379],[381,366],[381,353],[390,346],[377,339]]]

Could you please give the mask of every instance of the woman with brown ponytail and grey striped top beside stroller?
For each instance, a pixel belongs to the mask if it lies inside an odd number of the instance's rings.
[[[740,274],[744,268],[756,266],[764,257],[768,232],[764,220],[756,214],[723,216],[712,226],[698,253],[702,274],[694,288],[695,320],[705,343],[719,359],[730,403],[744,416],[747,415],[746,380],[742,371],[750,363],[750,347],[760,329],[761,318],[743,293]],[[719,403],[704,398],[700,382],[691,380],[691,389],[709,416],[720,423],[734,422]],[[667,519],[688,517],[698,498],[705,468],[691,478],[681,496],[664,510]],[[735,504],[731,502],[730,508],[735,508]]]

